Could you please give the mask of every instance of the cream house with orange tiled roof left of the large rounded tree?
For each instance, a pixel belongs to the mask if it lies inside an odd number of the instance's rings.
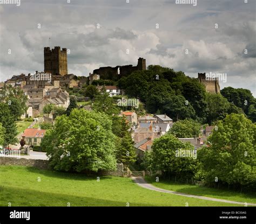
[[[39,146],[44,138],[45,132],[46,130],[27,128],[22,134],[22,138],[25,140],[26,145]]]

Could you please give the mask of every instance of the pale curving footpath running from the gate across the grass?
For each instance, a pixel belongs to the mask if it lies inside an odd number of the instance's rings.
[[[219,202],[231,203],[231,204],[237,204],[237,205],[243,205],[243,206],[245,205],[245,203],[243,203],[243,202],[228,201],[228,200],[217,199],[217,198],[208,198],[208,197],[205,197],[205,196],[196,196],[196,195],[179,193],[179,192],[175,192],[175,191],[169,191],[169,190],[161,189],[161,188],[155,187],[155,186],[147,183],[144,180],[144,178],[141,178],[141,177],[132,177],[132,180],[137,185],[139,185],[140,187],[144,187],[144,188],[150,189],[152,191],[158,191],[158,192],[169,193],[169,194],[176,194],[176,195],[185,196],[185,197],[188,197],[188,198],[197,198],[197,199],[203,199],[203,200],[208,200],[208,201],[219,201]],[[254,203],[247,203],[247,205],[248,206],[256,206],[256,204],[254,204]]]

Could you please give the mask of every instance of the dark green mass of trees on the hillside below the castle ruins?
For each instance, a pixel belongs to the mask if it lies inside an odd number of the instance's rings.
[[[211,125],[227,114],[244,113],[221,94],[206,93],[197,79],[159,65],[135,71],[121,78],[118,85],[129,97],[142,100],[149,113],[166,113],[175,121],[193,118]]]

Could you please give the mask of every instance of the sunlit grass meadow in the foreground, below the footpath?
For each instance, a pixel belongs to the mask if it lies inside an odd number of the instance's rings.
[[[130,178],[97,181],[84,174],[0,165],[0,206],[9,202],[11,206],[237,206],[151,191]]]

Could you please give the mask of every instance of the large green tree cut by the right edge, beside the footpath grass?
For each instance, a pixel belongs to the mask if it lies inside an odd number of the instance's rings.
[[[198,150],[208,182],[256,187],[255,124],[243,114],[229,114],[208,138],[210,147]]]

